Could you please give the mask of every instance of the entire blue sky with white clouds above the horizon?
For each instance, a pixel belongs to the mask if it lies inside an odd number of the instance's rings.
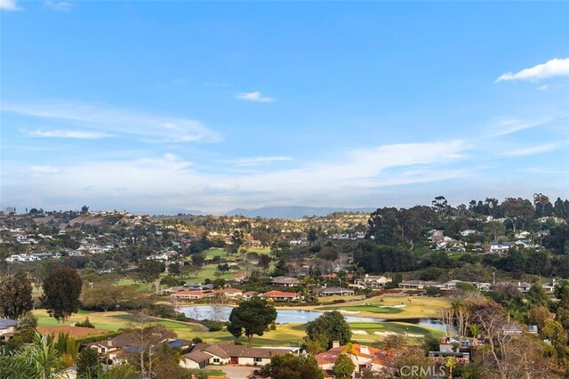
[[[0,0],[0,206],[569,198],[569,4]]]

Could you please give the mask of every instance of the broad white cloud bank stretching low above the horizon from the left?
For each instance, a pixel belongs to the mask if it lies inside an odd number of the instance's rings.
[[[331,199],[345,200],[346,193],[351,201],[375,196],[378,189],[389,186],[469,176],[470,165],[455,165],[468,160],[470,148],[465,141],[382,145],[347,151],[329,160],[295,162],[295,168],[253,173],[206,172],[171,153],[45,166],[35,168],[37,175],[29,181],[26,170],[14,167],[6,175],[4,193],[5,201],[14,204],[24,203],[22,198],[40,197],[44,200],[35,200],[36,204],[65,199],[68,204],[89,201],[121,209],[152,204],[155,208],[227,211],[287,201],[324,206]],[[42,189],[39,195],[37,188]],[[85,192],[85,188],[90,190]]]

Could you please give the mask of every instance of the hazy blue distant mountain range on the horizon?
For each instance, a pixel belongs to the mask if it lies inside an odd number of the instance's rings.
[[[232,216],[297,219],[304,216],[325,216],[334,212],[373,212],[375,208],[333,208],[316,206],[263,206],[255,209],[236,208],[227,213]]]

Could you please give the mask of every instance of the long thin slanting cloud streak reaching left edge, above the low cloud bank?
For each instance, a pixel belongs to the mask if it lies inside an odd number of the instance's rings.
[[[77,101],[44,101],[0,104],[3,112],[60,121],[88,133],[112,134],[148,142],[220,141],[221,136],[199,121],[168,117],[108,105]]]

